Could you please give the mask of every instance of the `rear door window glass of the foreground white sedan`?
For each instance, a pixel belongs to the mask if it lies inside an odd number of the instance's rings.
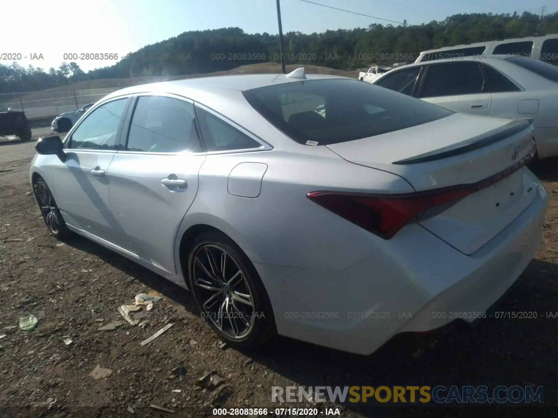
[[[127,151],[200,152],[194,104],[166,96],[140,96],[132,116]]]

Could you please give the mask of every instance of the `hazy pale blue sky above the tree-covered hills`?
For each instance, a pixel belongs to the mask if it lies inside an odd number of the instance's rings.
[[[456,13],[545,13],[558,10],[558,0],[312,0],[410,25],[444,20]],[[539,3],[540,1],[540,3]],[[23,9],[28,12],[22,17]],[[324,32],[384,23],[316,6],[301,0],[281,0],[283,32]],[[179,33],[238,26],[247,33],[277,33],[275,0],[27,0],[2,4],[2,53],[22,54],[18,64],[57,68],[64,54],[108,52],[127,54]],[[25,25],[16,24],[18,21]],[[44,60],[31,61],[31,54]],[[25,59],[25,57],[28,57]],[[12,60],[13,61],[13,60]],[[80,61],[87,71],[115,61]],[[11,61],[0,61],[10,64]]]

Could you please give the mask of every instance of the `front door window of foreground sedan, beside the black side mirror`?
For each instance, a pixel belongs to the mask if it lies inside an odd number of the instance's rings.
[[[118,127],[128,98],[109,101],[93,110],[71,135],[72,149],[116,149]]]

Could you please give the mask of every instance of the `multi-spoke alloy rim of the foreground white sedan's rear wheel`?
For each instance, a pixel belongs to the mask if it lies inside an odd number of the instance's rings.
[[[246,338],[256,318],[254,298],[233,257],[222,247],[202,244],[195,251],[192,273],[202,315],[227,338]]]

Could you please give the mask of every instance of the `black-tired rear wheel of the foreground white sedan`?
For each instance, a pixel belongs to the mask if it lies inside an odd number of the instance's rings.
[[[222,270],[220,266],[220,264],[222,265],[222,259],[219,260],[219,263],[215,263],[214,256],[220,254],[219,251],[227,254],[225,255],[224,274],[221,274],[219,271]],[[196,256],[198,260],[196,260]],[[209,256],[212,257],[211,260],[213,260],[213,262],[209,261]],[[208,260],[209,263],[208,261],[204,261],[204,257],[206,257],[205,259]],[[232,263],[232,261],[234,263]],[[203,266],[200,266],[200,262]],[[209,268],[213,265],[218,270],[216,276],[223,279],[222,283],[219,283],[217,280],[212,279],[210,275],[204,273],[204,271],[209,271]],[[215,273],[213,269],[211,271]],[[229,271],[231,273],[228,274]],[[238,271],[240,272],[239,275]],[[227,342],[229,346],[238,349],[255,348],[275,335],[275,317],[273,317],[270,298],[267,295],[262,280],[259,278],[256,269],[246,254],[244,254],[229,237],[218,231],[204,232],[197,236],[190,246],[188,273],[190,290],[194,294],[202,317],[210,327],[213,328],[215,333],[217,333],[223,341]],[[198,276],[198,284],[195,283],[195,275]],[[227,281],[229,275],[236,276],[236,279]],[[217,294],[217,297],[213,297],[211,290],[201,287],[204,286],[205,283],[209,283],[210,285],[213,283],[214,286],[211,286],[213,289],[220,288],[222,292],[221,295]],[[228,285],[225,283],[228,283]],[[227,286],[227,289],[225,289],[224,286]],[[238,289],[244,290],[239,293],[237,291]],[[245,298],[248,295],[246,293],[247,290],[250,291],[250,294],[248,298]],[[230,304],[224,302],[226,294],[230,295]],[[210,299],[214,298],[217,303],[208,303],[209,299],[206,299],[208,295]],[[242,298],[239,298],[237,295],[242,295]],[[221,302],[222,299],[223,302]],[[204,300],[205,305],[203,304]],[[242,300],[244,300],[244,302],[239,302]],[[246,302],[250,300],[252,302],[252,307],[246,304]],[[235,304],[235,302],[237,302],[237,304]],[[223,311],[225,304],[226,307],[224,309],[226,310]],[[220,310],[218,308],[217,312],[215,312],[213,308],[217,305],[220,306]],[[231,314],[228,314],[229,312]],[[223,319],[220,328],[219,318]],[[238,327],[238,325],[242,325],[243,329],[244,327],[248,328],[246,322],[250,323],[251,328],[249,331],[246,331],[246,334],[243,334],[240,332],[240,327]],[[237,325],[236,328],[234,324]],[[239,331],[238,337],[231,336],[232,333],[235,335],[237,334],[237,329]]]

